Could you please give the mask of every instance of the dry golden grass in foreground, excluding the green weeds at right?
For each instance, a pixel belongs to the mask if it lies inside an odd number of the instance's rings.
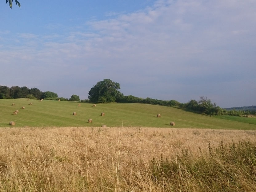
[[[207,159],[209,142],[212,148],[221,141],[224,146],[232,140],[255,142],[255,135],[140,127],[0,128],[0,191],[204,191],[206,186],[186,175],[171,184],[153,181],[152,159],[163,154],[175,162],[185,149],[190,159]],[[256,189],[247,182],[241,181],[241,191]]]

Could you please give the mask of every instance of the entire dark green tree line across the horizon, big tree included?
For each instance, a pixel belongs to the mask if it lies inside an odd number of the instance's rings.
[[[207,97],[200,97],[199,101],[189,100],[187,103],[180,103],[176,100],[158,100],[152,98],[139,98],[132,95],[125,96],[120,91],[120,84],[113,82],[110,79],[104,79],[97,82],[88,93],[87,100],[80,100],[78,95],[72,95],[69,99],[58,97],[58,94],[46,91],[42,92],[37,88],[29,89],[27,87],[18,86],[0,86],[0,98],[31,98],[31,99],[45,99],[45,100],[69,100],[81,101],[91,103],[143,103],[151,105],[170,106],[178,109],[205,115],[234,115],[234,116],[248,116],[249,114],[256,114],[255,111],[244,110],[226,110],[212,103]]]

